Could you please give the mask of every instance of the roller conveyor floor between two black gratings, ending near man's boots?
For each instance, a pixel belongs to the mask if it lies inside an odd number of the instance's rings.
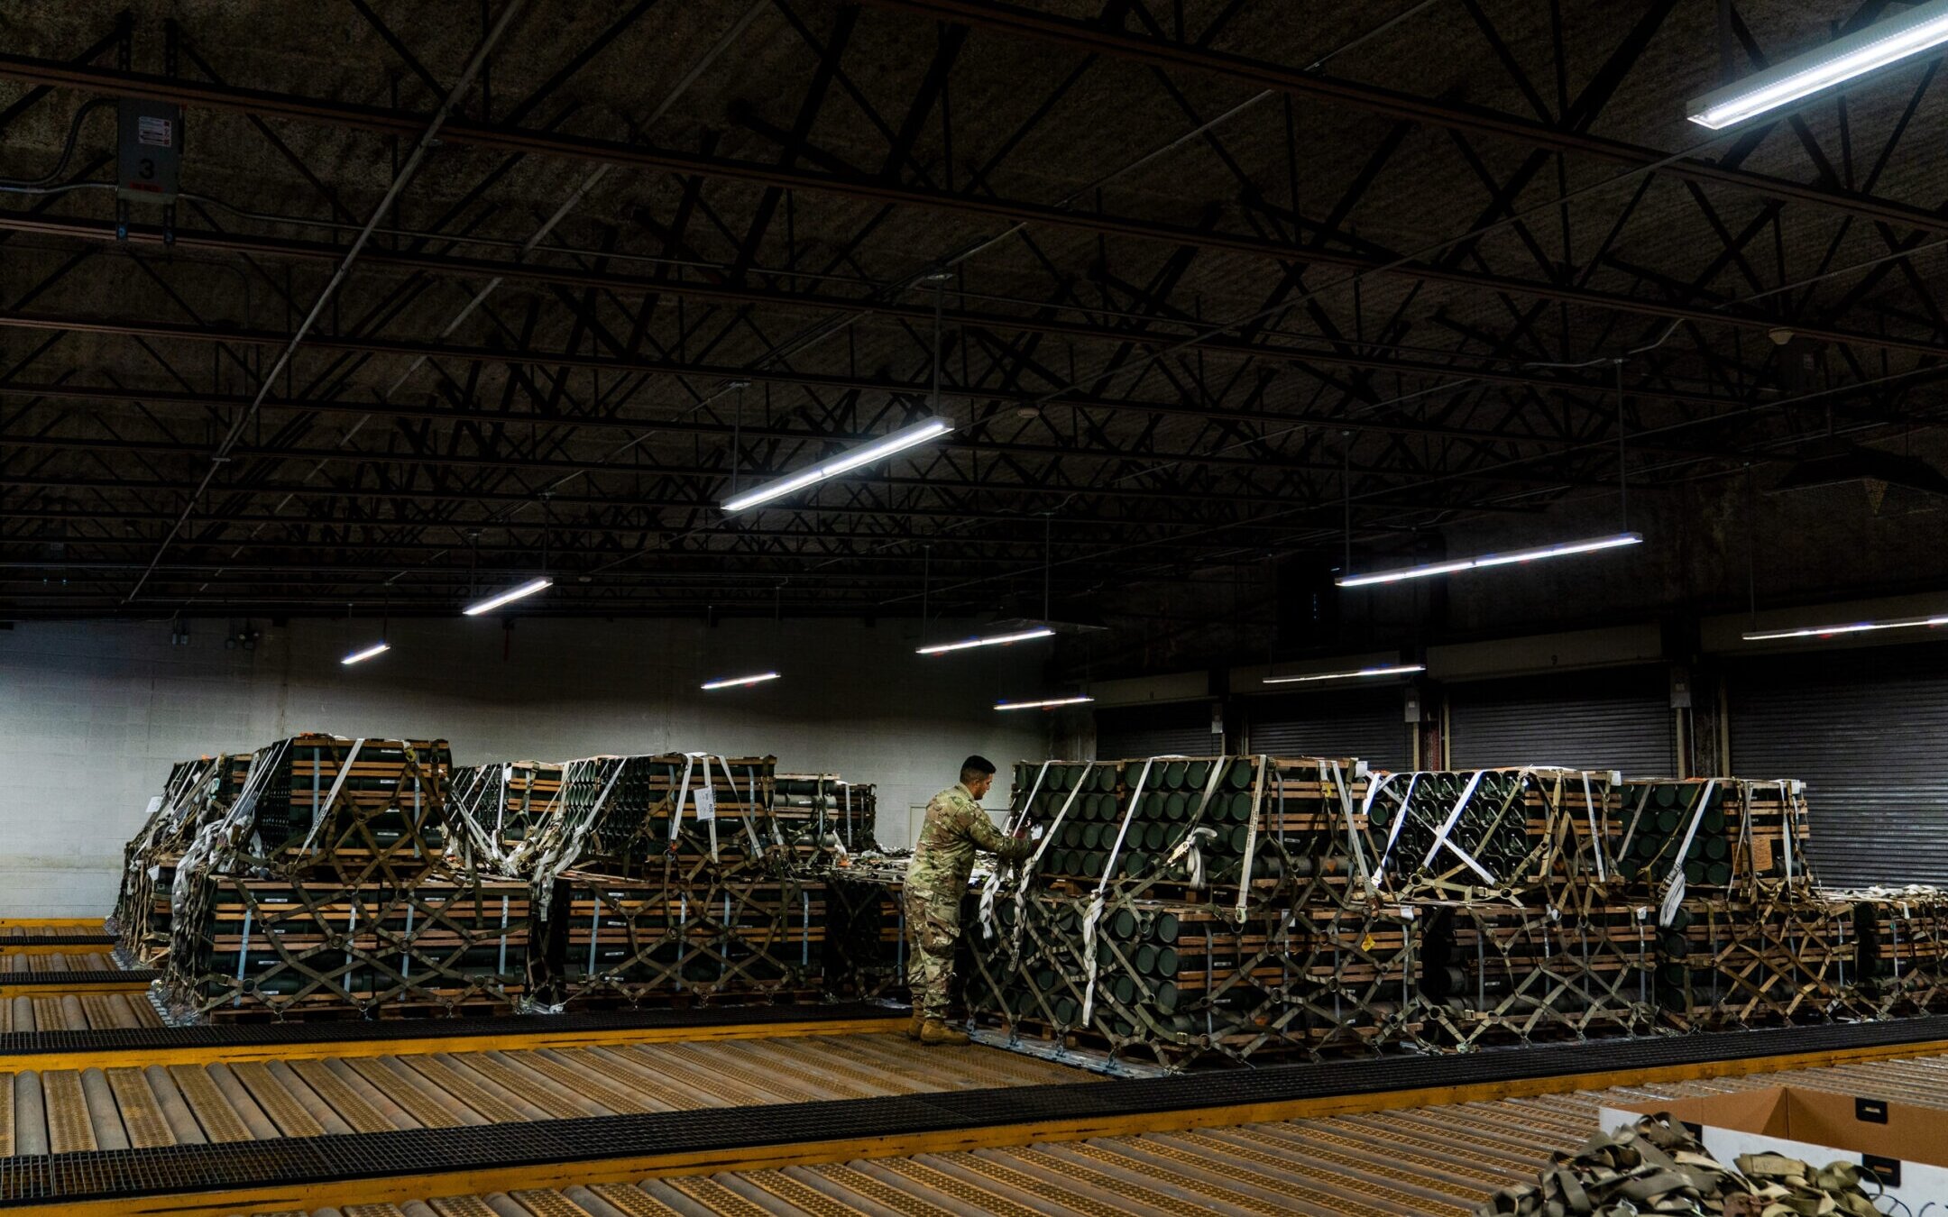
[[[1077,1081],[1075,1069],[900,1034],[19,1069],[0,1057],[12,1155],[452,1129],[532,1120]]]

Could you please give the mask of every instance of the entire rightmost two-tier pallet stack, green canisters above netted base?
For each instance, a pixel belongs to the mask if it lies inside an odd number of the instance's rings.
[[[1853,1014],[1851,907],[1823,898],[1794,781],[1632,779],[1613,843],[1656,909],[1656,1001],[1677,1030]]]

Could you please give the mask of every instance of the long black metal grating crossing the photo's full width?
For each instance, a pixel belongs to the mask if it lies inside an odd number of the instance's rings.
[[[1122,1083],[1066,1083],[843,1098],[643,1116],[590,1116],[456,1129],[284,1137],[232,1145],[0,1159],[0,1207],[226,1188],[325,1184],[495,1166],[725,1153],[760,1145],[995,1127],[1038,1120],[1177,1112],[1338,1094],[1379,1094],[1574,1073],[1611,1073],[1794,1051],[1948,1038],[1948,1016],[1656,1040],[1512,1048],[1467,1055],[1274,1065]]]

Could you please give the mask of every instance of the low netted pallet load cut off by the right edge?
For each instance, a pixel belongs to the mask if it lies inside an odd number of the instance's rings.
[[[1853,917],[1853,1007],[1870,1018],[1948,1013],[1948,892],[1823,892]]]

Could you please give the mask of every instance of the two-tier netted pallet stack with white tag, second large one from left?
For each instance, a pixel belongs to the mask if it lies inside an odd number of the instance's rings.
[[[773,757],[703,754],[563,765],[522,855],[547,933],[536,1001],[816,999],[826,894],[791,865],[773,771]]]

